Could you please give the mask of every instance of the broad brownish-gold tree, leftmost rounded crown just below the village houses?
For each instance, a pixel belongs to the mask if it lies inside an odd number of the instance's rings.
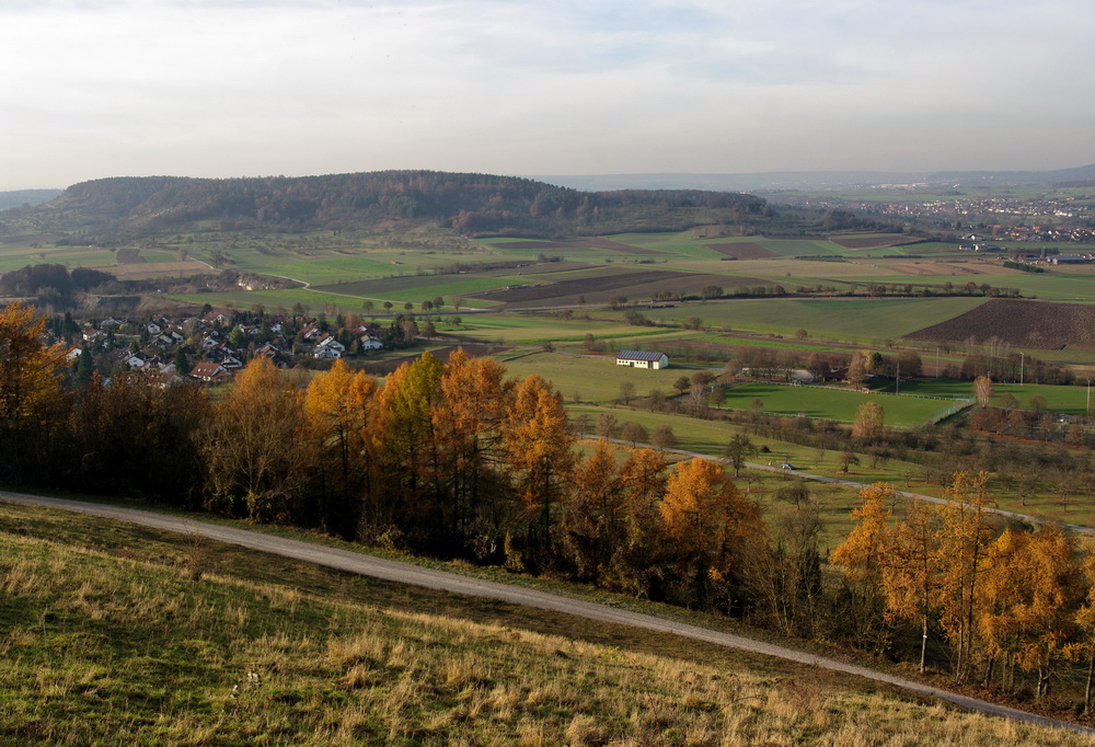
[[[203,438],[207,507],[263,522],[300,518],[309,443],[301,392],[269,358],[255,358],[215,407]]]

